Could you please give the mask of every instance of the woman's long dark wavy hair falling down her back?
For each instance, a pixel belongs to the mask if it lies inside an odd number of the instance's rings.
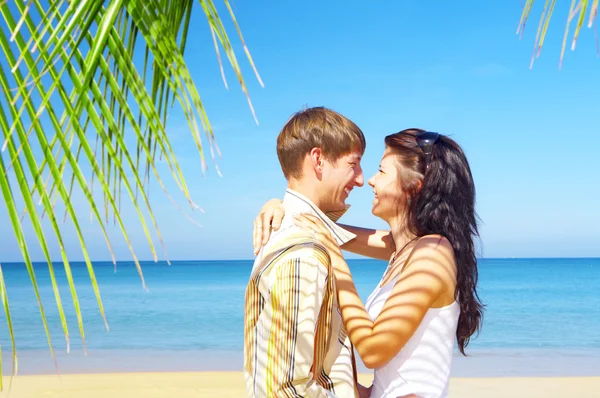
[[[475,184],[464,152],[452,139],[440,135],[433,145],[429,166],[417,145],[424,130],[407,129],[385,137],[386,147],[402,165],[400,183],[405,192],[406,228],[416,236],[438,234],[454,249],[457,267],[455,299],[460,305],[456,338],[463,355],[473,334],[481,328],[483,304],[477,294],[475,238]],[[420,188],[420,189],[419,189]]]

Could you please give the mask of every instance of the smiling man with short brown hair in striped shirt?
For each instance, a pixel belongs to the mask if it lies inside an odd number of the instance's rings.
[[[320,217],[339,245],[353,239],[335,221],[350,191],[364,183],[365,147],[356,124],[322,107],[296,113],[277,138],[288,189],[285,217],[258,253],[246,290],[244,372],[251,398],[358,396],[329,255],[294,225],[294,215]]]

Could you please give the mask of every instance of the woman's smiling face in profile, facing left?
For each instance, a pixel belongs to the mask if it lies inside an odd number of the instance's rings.
[[[384,221],[390,221],[397,217],[404,193],[400,183],[398,162],[396,155],[386,148],[379,164],[379,170],[369,180],[369,185],[373,187],[375,198],[373,199],[373,214]]]

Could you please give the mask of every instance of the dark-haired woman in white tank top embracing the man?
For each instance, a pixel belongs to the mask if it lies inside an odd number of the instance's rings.
[[[331,256],[344,324],[363,363],[375,369],[371,390],[363,393],[446,397],[454,336],[465,354],[482,321],[473,178],[463,151],[446,136],[408,129],[387,136],[385,144],[369,185],[372,212],[389,224],[391,239],[389,233],[346,227],[358,237],[343,247],[371,257],[400,248],[389,253],[366,306],[321,221],[303,215],[296,222],[315,233]],[[266,206],[262,217],[278,213],[275,224],[282,208]],[[255,241],[260,234],[255,231]],[[386,244],[390,240],[393,245]]]

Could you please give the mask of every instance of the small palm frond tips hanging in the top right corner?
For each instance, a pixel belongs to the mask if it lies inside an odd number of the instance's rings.
[[[525,25],[529,16],[531,14],[531,10],[533,9],[534,0],[527,0],[523,5],[523,13],[521,14],[521,20],[519,21],[519,27],[517,28],[517,34],[523,35],[523,31],[525,30]],[[565,56],[565,49],[567,48],[567,41],[569,37],[569,33],[571,33],[571,22],[574,19],[577,19],[577,23],[575,25],[575,30],[573,32],[573,38],[571,41],[571,50],[575,50],[575,46],[577,45],[577,39],[579,38],[579,33],[581,31],[581,27],[585,23],[586,15],[589,12],[588,18],[588,28],[594,26],[594,22],[598,16],[598,2],[599,0],[571,0],[571,6],[569,8],[569,14],[567,17],[565,33],[563,36],[562,48],[560,51],[560,60],[558,64],[558,68],[562,68],[562,62]],[[566,4],[563,2],[562,4]],[[539,58],[540,53],[542,52],[542,47],[544,45],[544,40],[546,38],[546,33],[548,31],[548,26],[550,25],[550,20],[552,18],[554,8],[556,5],[556,0],[546,0],[544,2],[544,8],[542,10],[540,16],[540,22],[538,24],[538,29],[533,45],[533,55],[531,56],[531,64],[530,68],[533,68],[534,61]],[[596,36],[596,51],[600,54],[600,49],[598,48],[598,38]]]

